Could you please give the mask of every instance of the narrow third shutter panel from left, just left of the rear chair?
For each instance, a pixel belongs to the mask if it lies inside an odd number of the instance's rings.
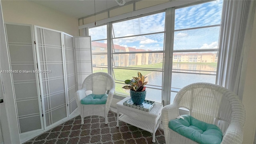
[[[63,33],[64,53],[66,62],[66,82],[67,82],[67,94],[68,94],[68,112],[71,114],[76,110],[76,98],[75,92],[76,86],[76,68],[75,68],[75,56],[73,36]]]

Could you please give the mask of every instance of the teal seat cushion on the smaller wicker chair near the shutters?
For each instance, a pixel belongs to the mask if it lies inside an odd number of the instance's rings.
[[[106,104],[107,94],[89,94],[81,100],[81,104]]]

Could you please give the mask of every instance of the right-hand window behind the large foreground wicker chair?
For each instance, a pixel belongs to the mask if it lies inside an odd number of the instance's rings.
[[[176,8],[170,103],[188,84],[215,84],[221,13],[222,0]]]

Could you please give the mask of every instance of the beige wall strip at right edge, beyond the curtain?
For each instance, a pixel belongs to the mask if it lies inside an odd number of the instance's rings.
[[[256,130],[256,14],[248,55],[243,104],[246,109],[243,144],[253,144]]]

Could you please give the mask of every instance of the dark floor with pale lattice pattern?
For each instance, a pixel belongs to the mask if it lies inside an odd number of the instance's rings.
[[[108,124],[99,116],[88,116],[81,124],[77,116],[24,144],[164,144],[164,132],[156,131],[156,142],[152,142],[152,134],[125,122],[116,127],[114,112],[108,113]]]

